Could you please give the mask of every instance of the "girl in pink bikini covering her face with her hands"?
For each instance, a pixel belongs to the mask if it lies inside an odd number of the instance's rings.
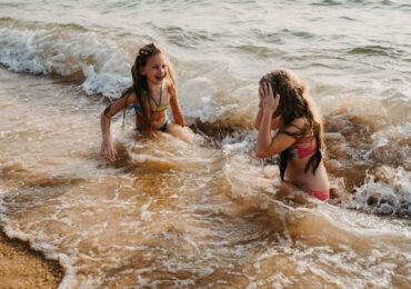
[[[261,78],[255,155],[268,158],[279,153],[281,180],[328,201],[330,182],[321,153],[322,123],[305,90],[288,70],[275,70]],[[275,129],[272,137],[271,130]]]

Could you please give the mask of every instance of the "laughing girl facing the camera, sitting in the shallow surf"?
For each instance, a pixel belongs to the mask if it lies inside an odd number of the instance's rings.
[[[111,118],[128,106],[136,110],[137,129],[140,132],[167,132],[187,142],[193,142],[194,134],[184,127],[186,120],[179,106],[174,76],[166,53],[154,43],[139,50],[131,68],[133,83],[122,96],[101,113],[101,155],[108,160],[117,159],[111,141]],[[169,121],[170,107],[174,122]]]

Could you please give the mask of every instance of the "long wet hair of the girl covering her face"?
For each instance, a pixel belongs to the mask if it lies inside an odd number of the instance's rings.
[[[293,138],[300,138],[307,134],[311,134],[315,138],[317,150],[314,155],[309,159],[304,171],[308,172],[312,169],[312,173],[320,166],[322,159],[323,144],[323,132],[321,120],[315,116],[314,108],[310,103],[310,97],[307,93],[307,86],[290,70],[274,70],[267,73],[260,79],[260,86],[264,82],[271,84],[274,96],[279,93],[281,96],[278,110],[274,114],[280,114],[282,117],[282,126],[280,131],[287,133]],[[303,118],[305,124],[303,128],[298,128],[291,122],[295,119]],[[285,128],[292,126],[298,128],[298,132],[287,131]],[[282,151],[280,153],[280,176],[284,180],[285,169],[288,160],[290,158],[290,150]]]

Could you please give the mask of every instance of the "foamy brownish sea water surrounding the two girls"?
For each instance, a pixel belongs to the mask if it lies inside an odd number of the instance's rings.
[[[60,288],[410,288],[411,4],[381,0],[1,1],[0,222]],[[99,117],[160,43],[197,144]],[[254,157],[277,68],[322,111],[333,203]],[[121,113],[119,113],[121,114]],[[273,160],[275,162],[275,159]]]

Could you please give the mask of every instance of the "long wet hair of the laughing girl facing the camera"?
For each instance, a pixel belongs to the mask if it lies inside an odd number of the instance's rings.
[[[142,121],[143,126],[147,128],[151,127],[151,104],[150,104],[150,89],[149,83],[147,80],[147,77],[141,74],[141,69],[146,67],[147,62],[150,60],[150,58],[163,53],[163,50],[154,44],[150,43],[139,49],[139,52],[137,53],[136,60],[133,66],[131,67],[131,77],[132,77],[132,84],[127,88],[122,94],[121,98],[126,97],[126,103],[127,98],[130,96],[130,93],[134,92],[136,97],[139,101],[139,104],[142,110]],[[174,72],[171,68],[170,61],[167,59],[167,77],[171,80],[171,82],[174,84]],[[126,116],[126,109],[123,112],[123,118]]]

